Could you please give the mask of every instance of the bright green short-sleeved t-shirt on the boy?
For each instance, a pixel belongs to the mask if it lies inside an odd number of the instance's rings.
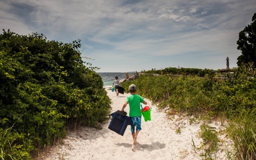
[[[144,102],[144,99],[141,96],[136,94],[127,96],[126,102],[128,102],[130,106],[130,117],[141,116],[140,103]]]

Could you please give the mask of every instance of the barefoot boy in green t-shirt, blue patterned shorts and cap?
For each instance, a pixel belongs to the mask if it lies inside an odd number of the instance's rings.
[[[133,138],[133,146],[132,146],[133,151],[136,150],[137,137],[141,130],[140,103],[147,105],[147,102],[141,96],[135,94],[136,91],[137,91],[137,88],[135,85],[132,84],[129,86],[129,92],[131,95],[126,97],[125,103],[121,110],[121,111],[124,111],[124,108],[127,106],[127,104],[129,104],[130,106],[129,116],[131,117],[131,120],[132,120],[131,132],[132,132],[132,138]],[[135,127],[136,127],[136,131],[135,131]]]

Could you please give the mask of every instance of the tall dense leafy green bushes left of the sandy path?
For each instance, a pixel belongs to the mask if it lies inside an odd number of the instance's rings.
[[[99,127],[110,99],[80,41],[64,44],[42,34],[0,35],[0,159],[31,159],[67,127]]]

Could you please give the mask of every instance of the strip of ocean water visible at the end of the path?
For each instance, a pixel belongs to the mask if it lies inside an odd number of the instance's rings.
[[[134,72],[97,72],[102,78],[104,87],[111,87],[113,85],[113,81],[117,76],[119,80],[125,78],[125,74],[133,74]]]

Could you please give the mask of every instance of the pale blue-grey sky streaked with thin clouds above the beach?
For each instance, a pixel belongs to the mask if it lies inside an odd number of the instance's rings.
[[[0,0],[0,27],[49,40],[81,39],[97,72],[237,67],[238,33],[255,0]]]

